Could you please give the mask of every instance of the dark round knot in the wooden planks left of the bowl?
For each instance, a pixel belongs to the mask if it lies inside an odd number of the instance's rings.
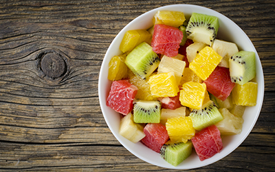
[[[47,52],[41,56],[41,69],[43,73],[52,78],[59,78],[67,72],[67,65],[61,54]]]

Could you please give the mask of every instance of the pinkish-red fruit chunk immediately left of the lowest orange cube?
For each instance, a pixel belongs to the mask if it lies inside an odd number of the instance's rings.
[[[144,127],[145,137],[142,142],[153,151],[159,153],[162,146],[169,140],[165,125],[161,123],[148,123]]]

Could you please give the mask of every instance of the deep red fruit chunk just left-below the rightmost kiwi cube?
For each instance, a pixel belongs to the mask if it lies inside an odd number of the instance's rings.
[[[223,101],[228,98],[235,86],[235,83],[231,82],[229,69],[219,66],[203,83],[206,84],[208,92]]]

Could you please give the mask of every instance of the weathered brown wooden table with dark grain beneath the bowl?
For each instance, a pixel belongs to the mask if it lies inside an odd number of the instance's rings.
[[[275,1],[0,1],[0,171],[171,171],[115,139],[98,101],[111,41],[135,17],[177,3],[221,12],[261,58],[265,99],[248,138],[190,171],[274,171]]]

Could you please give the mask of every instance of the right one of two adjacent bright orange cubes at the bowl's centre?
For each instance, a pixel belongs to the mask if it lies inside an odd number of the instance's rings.
[[[206,85],[204,83],[188,82],[182,85],[179,100],[181,105],[193,109],[201,109],[206,94]]]

